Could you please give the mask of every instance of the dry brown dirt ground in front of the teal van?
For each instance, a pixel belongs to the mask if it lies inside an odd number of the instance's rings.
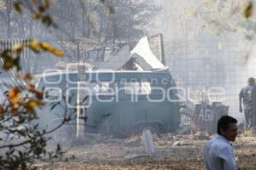
[[[204,134],[165,134],[154,137],[155,154],[147,156],[140,136],[131,139],[109,139],[88,135],[67,148],[69,161],[55,164],[38,164],[38,169],[205,169],[204,146],[209,137]],[[256,169],[256,138],[240,135],[233,144],[237,165],[241,169]]]

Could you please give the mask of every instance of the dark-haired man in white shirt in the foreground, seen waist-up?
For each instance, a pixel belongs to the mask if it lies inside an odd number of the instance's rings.
[[[207,170],[236,170],[236,161],[230,141],[237,135],[237,120],[222,116],[218,120],[218,136],[207,142],[205,161]]]

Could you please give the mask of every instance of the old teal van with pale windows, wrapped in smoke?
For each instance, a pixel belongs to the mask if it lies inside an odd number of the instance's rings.
[[[57,71],[44,74],[38,88],[46,94],[47,105],[39,111],[46,127],[57,126],[67,115],[77,135],[122,136],[144,127],[167,133],[179,127],[177,89],[169,71],[88,71],[82,76]]]

